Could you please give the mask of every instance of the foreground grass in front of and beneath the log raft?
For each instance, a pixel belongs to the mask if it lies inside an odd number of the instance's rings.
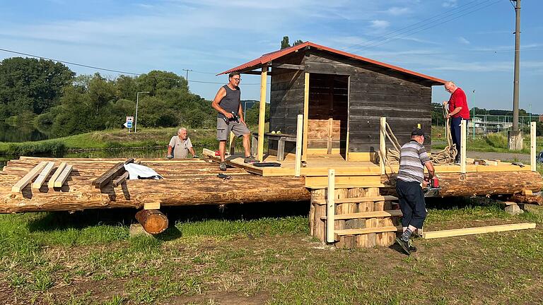
[[[243,219],[248,206],[208,216],[204,209],[170,210],[175,225],[156,238],[129,237],[129,210],[0,215],[0,299],[10,304],[541,301],[543,207],[513,216],[487,198],[428,202],[427,230],[526,221],[538,228],[417,239],[419,252],[407,257],[382,247],[322,247],[308,237],[308,220],[300,216],[307,211]]]

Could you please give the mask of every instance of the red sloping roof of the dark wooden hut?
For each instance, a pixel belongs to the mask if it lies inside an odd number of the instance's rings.
[[[219,76],[221,74],[227,74],[227,73],[234,72],[234,71],[246,71],[246,70],[252,70],[254,68],[259,68],[263,64],[267,64],[269,61],[273,61],[274,59],[278,59],[281,56],[296,52],[299,49],[303,49],[305,47],[314,47],[316,49],[322,49],[324,51],[331,52],[331,53],[334,53],[334,54],[339,54],[339,55],[346,56],[346,57],[350,57],[352,59],[358,59],[360,61],[366,61],[366,62],[368,62],[370,64],[375,64],[375,65],[378,65],[378,66],[391,68],[393,70],[396,70],[396,71],[399,71],[399,72],[402,72],[402,73],[411,74],[413,76],[419,76],[420,78],[426,78],[427,80],[433,80],[436,83],[440,83],[440,84],[445,83],[445,80],[442,80],[440,78],[434,78],[432,76],[427,76],[427,75],[422,74],[422,73],[417,73],[415,71],[400,68],[399,66],[393,66],[391,64],[385,64],[385,63],[383,63],[381,61],[375,61],[373,59],[368,59],[366,57],[362,57],[362,56],[358,56],[358,55],[355,55],[355,54],[339,51],[337,49],[332,49],[330,47],[325,47],[325,46],[322,46],[320,44],[315,44],[313,42],[304,42],[303,44],[298,44],[298,45],[293,46],[293,47],[288,47],[286,49],[281,49],[281,50],[278,50],[278,51],[275,51],[275,52],[264,54],[264,55],[260,56],[257,59],[253,59],[252,61],[249,61],[249,62],[247,62],[245,64],[241,64],[240,66],[237,66],[235,68],[231,68],[230,70],[226,70],[224,72],[218,73],[217,75]]]

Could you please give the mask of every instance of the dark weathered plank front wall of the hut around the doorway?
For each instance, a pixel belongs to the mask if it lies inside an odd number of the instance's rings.
[[[425,145],[431,145],[431,86],[425,80],[315,49],[304,63],[310,73],[351,75],[349,152],[379,150],[380,116],[387,117],[400,144],[421,124]]]

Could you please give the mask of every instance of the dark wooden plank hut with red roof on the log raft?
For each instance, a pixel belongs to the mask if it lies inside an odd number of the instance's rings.
[[[379,150],[381,116],[400,143],[420,126],[431,134],[432,85],[445,80],[313,42],[304,42],[231,68],[262,76],[259,143],[262,160],[267,76],[271,74],[270,131],[296,133],[303,114],[302,160],[339,154],[346,161],[374,160]],[[431,145],[431,137],[426,139]],[[276,143],[270,143],[276,150]],[[294,145],[286,145],[293,152]]]

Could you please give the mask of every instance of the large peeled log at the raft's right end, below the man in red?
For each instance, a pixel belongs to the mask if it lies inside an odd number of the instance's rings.
[[[543,189],[543,179],[538,172],[468,172],[438,173],[441,190],[439,196],[487,196],[534,192]],[[384,184],[392,186],[387,195],[396,195],[396,175],[383,176]]]

